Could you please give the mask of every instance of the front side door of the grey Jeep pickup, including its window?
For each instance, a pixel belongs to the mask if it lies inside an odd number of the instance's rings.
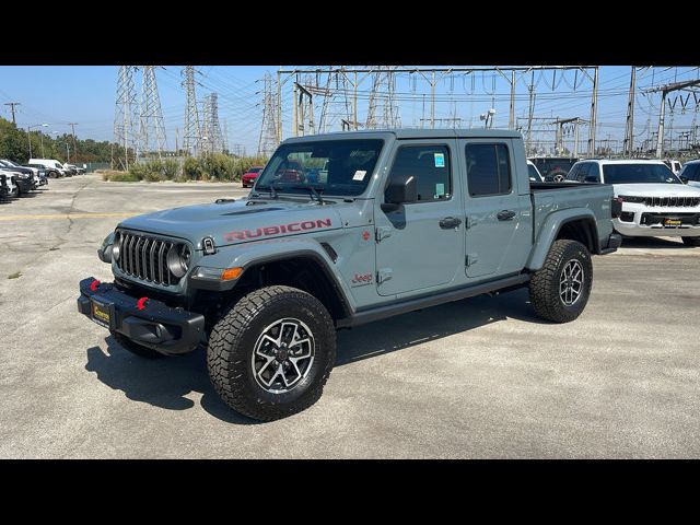
[[[464,212],[455,154],[455,140],[405,140],[395,145],[387,177],[416,177],[418,201],[385,211],[383,198],[377,199],[380,295],[429,291],[453,281],[463,267]]]

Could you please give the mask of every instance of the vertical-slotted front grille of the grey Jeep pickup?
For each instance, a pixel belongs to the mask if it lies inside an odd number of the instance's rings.
[[[167,266],[167,253],[186,243],[148,234],[117,230],[120,236],[117,267],[140,281],[174,287],[182,278],[175,277]]]

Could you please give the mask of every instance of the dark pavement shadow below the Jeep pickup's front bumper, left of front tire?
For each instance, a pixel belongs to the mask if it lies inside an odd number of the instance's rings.
[[[128,399],[148,402],[166,410],[187,410],[196,401],[191,392],[202,395],[201,407],[211,416],[235,424],[257,424],[229,408],[211,386],[202,348],[185,355],[143,359],[125,350],[112,336],[105,339],[106,352],[100,347],[88,349],[85,370],[109,388],[121,390]]]

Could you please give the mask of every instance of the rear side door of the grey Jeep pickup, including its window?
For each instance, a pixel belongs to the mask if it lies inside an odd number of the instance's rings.
[[[458,148],[467,177],[467,277],[517,272],[532,242],[532,203],[529,185],[521,190],[517,187],[513,140],[460,139]]]

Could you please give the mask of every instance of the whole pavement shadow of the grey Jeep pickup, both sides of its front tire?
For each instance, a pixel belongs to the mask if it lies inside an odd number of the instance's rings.
[[[480,295],[352,330],[340,330],[336,366],[508,318],[546,323],[535,316],[527,290],[516,290],[495,298]],[[88,349],[85,370],[94,372],[97,380],[109,388],[124,392],[128,399],[166,410],[187,410],[194,408],[196,401],[186,396],[198,392],[202,395],[201,407],[217,419],[235,424],[259,423],[238,415],[221,400],[209,381],[206,350],[202,347],[185,355],[151,360],[130,353],[110,336],[105,342],[106,351],[100,347]]]

